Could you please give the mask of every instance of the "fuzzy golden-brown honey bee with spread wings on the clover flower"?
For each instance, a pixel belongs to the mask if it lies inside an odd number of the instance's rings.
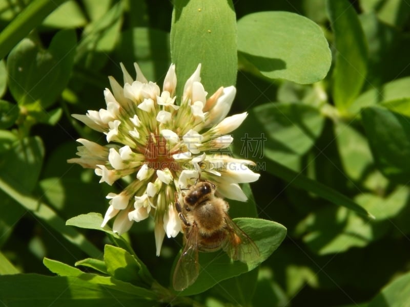
[[[177,291],[186,289],[198,277],[198,251],[223,249],[229,257],[242,262],[260,255],[252,239],[229,217],[229,204],[215,196],[212,182],[197,181],[185,190],[181,192],[181,204],[175,200],[186,241],[173,276]]]

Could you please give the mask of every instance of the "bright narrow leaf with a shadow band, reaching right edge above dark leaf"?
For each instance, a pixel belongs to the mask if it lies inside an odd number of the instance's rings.
[[[410,97],[410,86],[408,84],[410,84],[410,77],[405,77],[385,83],[380,88],[368,90],[355,100],[349,111],[358,113],[361,108],[366,106],[406,99]]]

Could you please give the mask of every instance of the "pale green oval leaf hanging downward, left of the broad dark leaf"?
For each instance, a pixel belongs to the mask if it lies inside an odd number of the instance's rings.
[[[340,159],[347,176],[360,182],[373,165],[372,151],[367,140],[356,129],[343,122],[335,123],[336,142]]]

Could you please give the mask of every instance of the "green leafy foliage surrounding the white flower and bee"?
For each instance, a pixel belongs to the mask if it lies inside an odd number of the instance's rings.
[[[408,1],[0,0],[0,29],[0,303],[410,305]],[[178,94],[199,62],[209,93],[236,84],[261,178],[230,212],[262,264],[201,254],[177,293],[181,237],[156,257],[153,221],[100,229],[116,187],[67,164],[101,138],[70,115],[135,61],[159,84],[176,63]]]

